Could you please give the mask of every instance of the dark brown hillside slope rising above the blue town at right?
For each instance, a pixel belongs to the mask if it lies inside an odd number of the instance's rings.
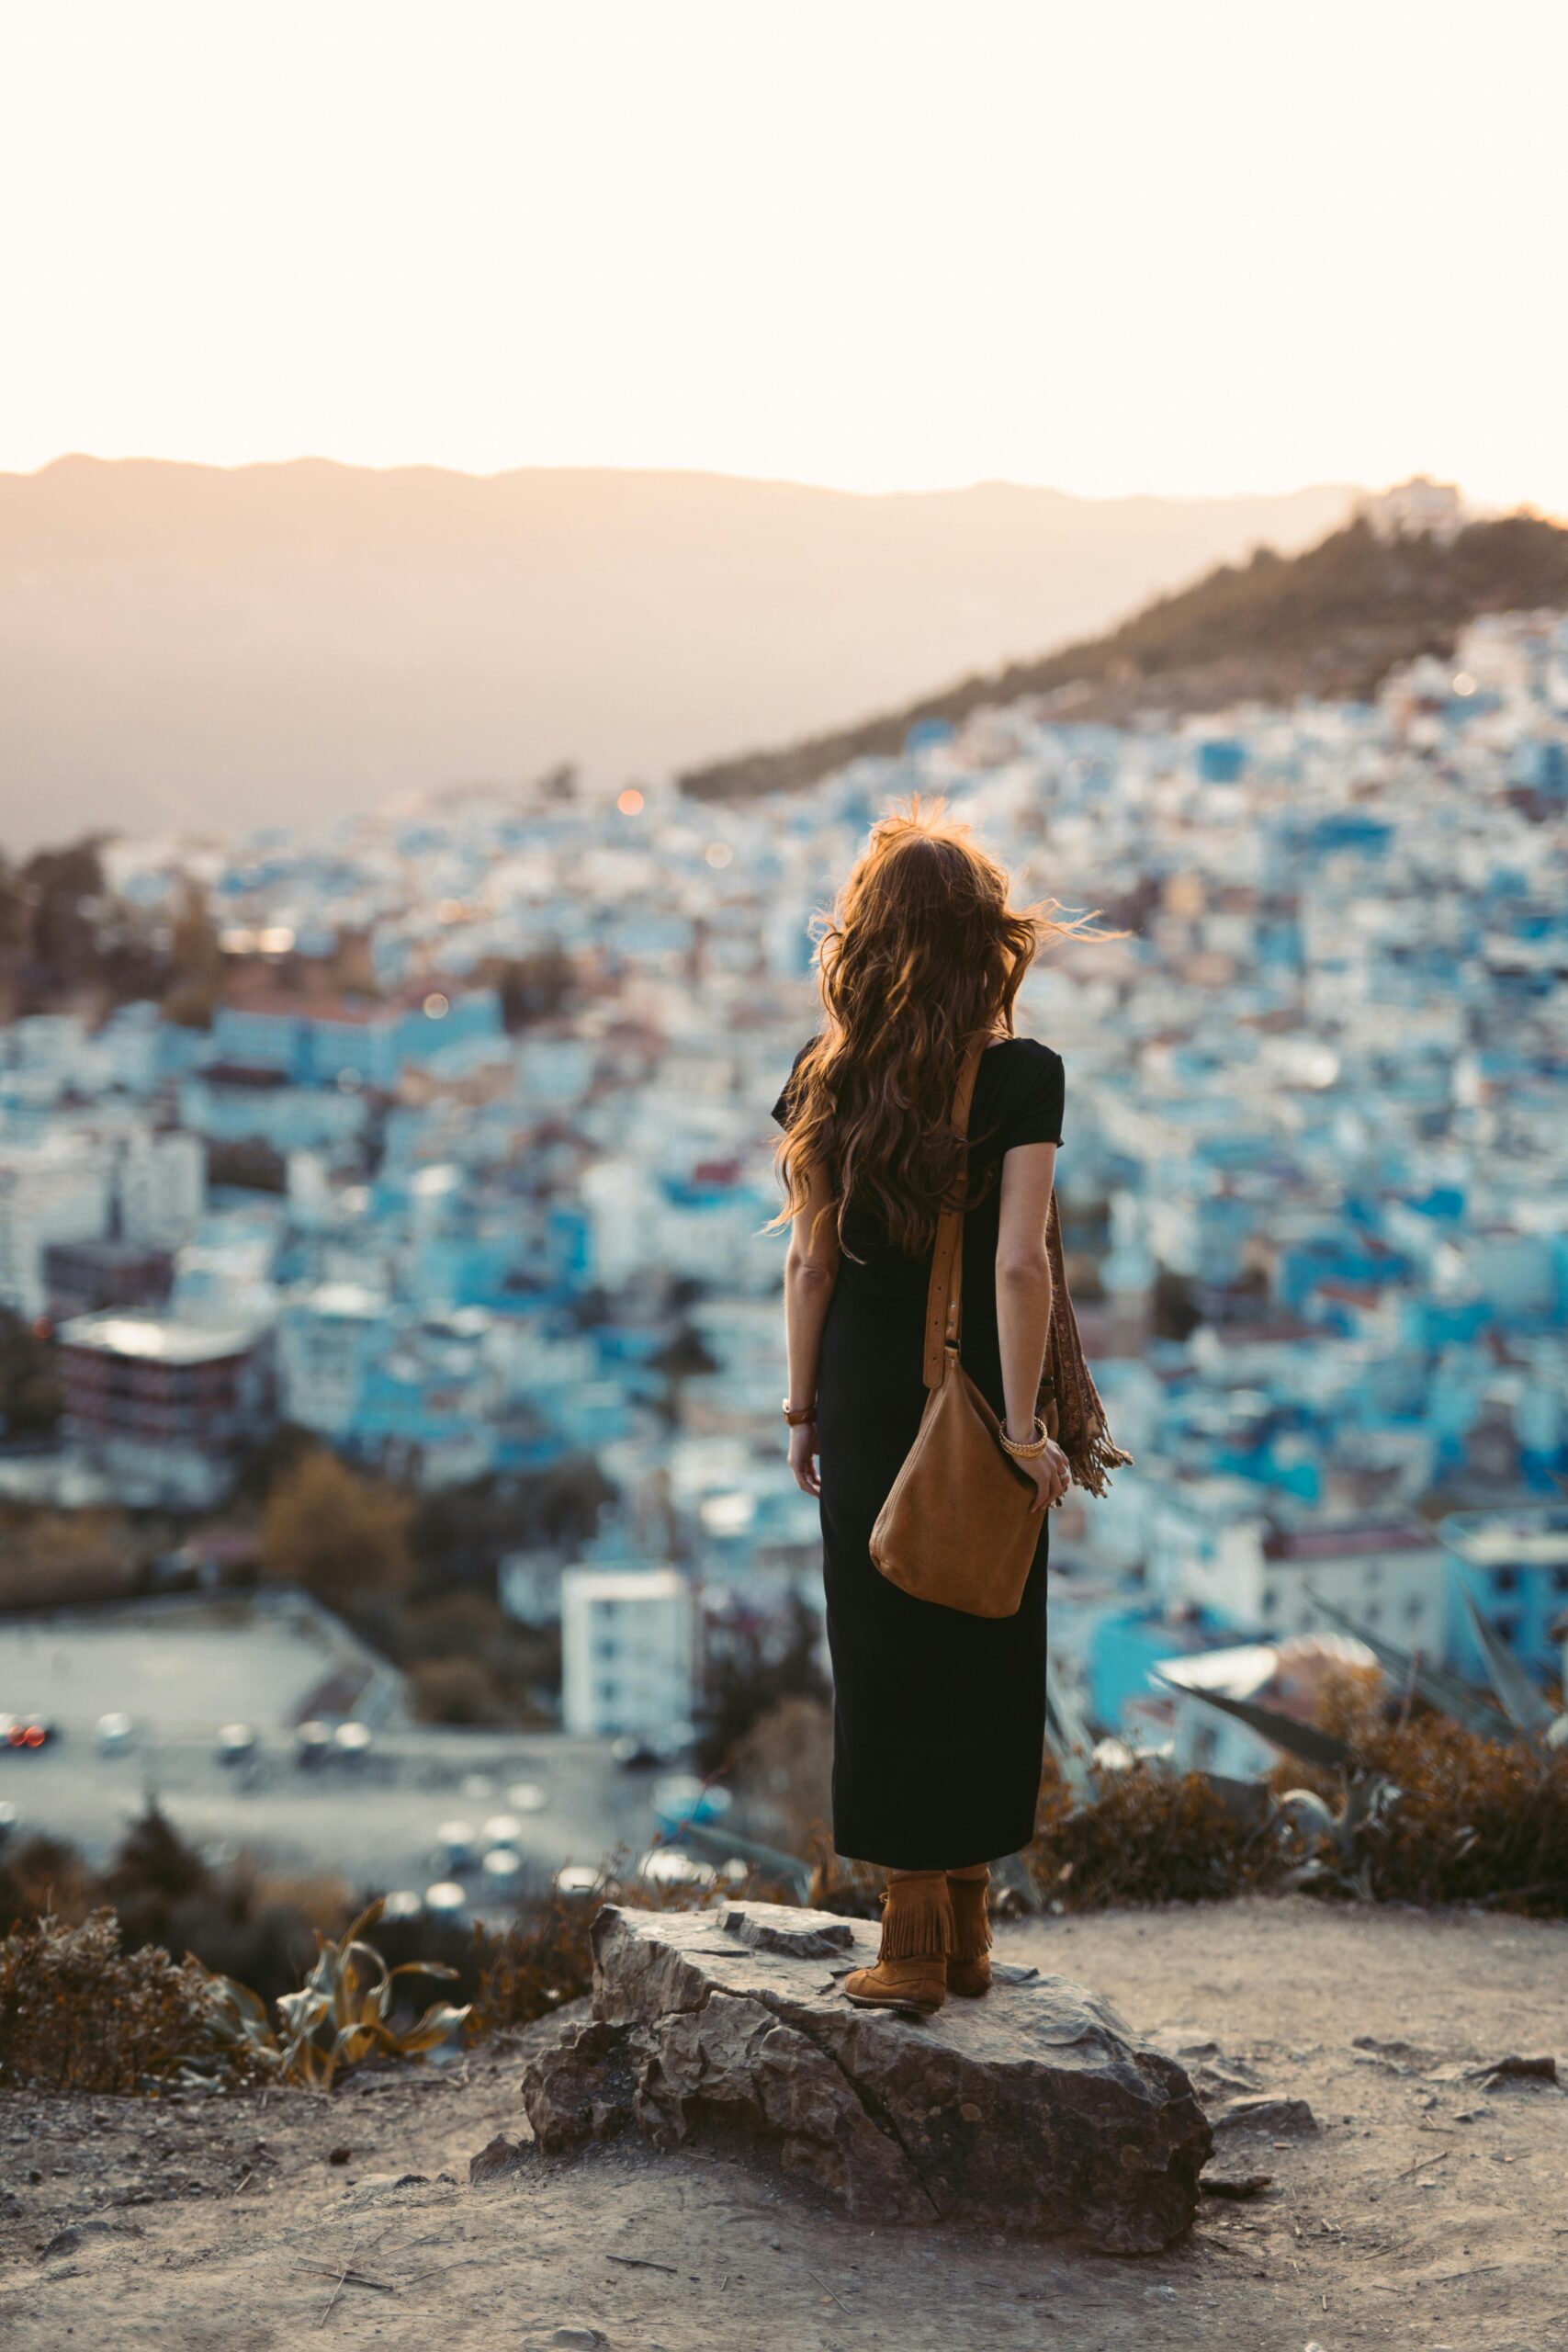
[[[1027,694],[1060,694],[1074,717],[1105,720],[1366,696],[1396,663],[1448,654],[1474,614],[1537,604],[1568,604],[1568,529],[1556,522],[1472,522],[1448,546],[1385,541],[1349,522],[1300,555],[1258,548],[1246,564],[1218,564],[1103,637],[964,677],[860,727],[686,769],[679,783],[698,800],[792,790],[846,760],[900,750],[919,720],[961,720]]]

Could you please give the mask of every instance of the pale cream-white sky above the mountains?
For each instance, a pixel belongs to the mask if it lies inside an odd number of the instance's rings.
[[[0,0],[0,468],[1568,513],[1561,0]]]

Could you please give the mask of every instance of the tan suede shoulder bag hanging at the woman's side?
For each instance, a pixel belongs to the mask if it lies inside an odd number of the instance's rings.
[[[969,1105],[985,1044],[971,1049],[952,1098]],[[997,1442],[999,1421],[959,1362],[964,1308],[964,1211],[936,1228],[926,1291],[926,1409],[872,1529],[872,1562],[903,1592],[966,1616],[1016,1616],[1034,1564],[1041,1515],[1034,1482]]]

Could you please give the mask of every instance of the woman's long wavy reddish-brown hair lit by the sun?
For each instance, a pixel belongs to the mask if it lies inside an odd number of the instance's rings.
[[[839,1244],[853,1202],[891,1242],[922,1256],[957,1204],[964,1136],[952,1124],[959,1065],[976,1037],[1013,1033],[1018,985],[1056,922],[1056,901],[1016,908],[1009,877],[945,804],[896,807],[820,922],[825,1023],[795,1068],[778,1145],[783,1225],[806,1207],[811,1171],[830,1171]]]

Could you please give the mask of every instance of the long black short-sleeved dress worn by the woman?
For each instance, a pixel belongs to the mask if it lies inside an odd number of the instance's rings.
[[[804,1049],[802,1049],[804,1051]],[[797,1056],[799,1063],[799,1056]],[[1060,1054],[1009,1037],[980,1056],[969,1112],[961,1359],[1004,1411],[997,1348],[1001,1155],[1063,1141]],[[790,1087],[773,1117],[783,1124]],[[917,1602],[870,1559],[870,1536],[914,1442],[931,1256],[907,1258],[849,1209],[823,1329],[818,1446],[832,1653],[832,1842],[886,1870],[961,1870],[1027,1846],[1046,1738],[1046,1552],[1018,1613]]]

